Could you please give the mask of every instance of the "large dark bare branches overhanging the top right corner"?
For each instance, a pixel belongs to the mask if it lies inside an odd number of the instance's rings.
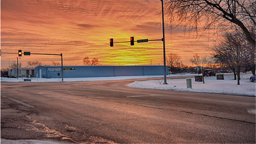
[[[170,28],[198,31],[242,30],[255,47],[255,0],[168,0]],[[174,23],[177,22],[177,23]]]

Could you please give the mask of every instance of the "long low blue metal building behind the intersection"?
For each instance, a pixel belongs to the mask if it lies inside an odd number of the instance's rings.
[[[168,74],[168,66],[166,66]],[[163,75],[163,66],[63,66],[63,78]],[[61,66],[38,66],[35,77],[62,78]]]

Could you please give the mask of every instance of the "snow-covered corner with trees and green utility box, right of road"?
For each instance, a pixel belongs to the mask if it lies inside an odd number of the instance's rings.
[[[163,85],[163,82],[158,80],[149,80],[135,81],[129,84],[129,86],[147,89],[206,92],[219,94],[246,95],[255,97],[256,83],[249,81],[250,76],[251,74],[241,75],[240,85],[237,85],[237,80],[234,80],[233,75],[227,75],[224,76],[224,80],[217,80],[216,77],[205,77],[204,84],[203,82],[195,82],[195,78],[193,77],[184,79],[167,79],[167,85]],[[192,88],[187,88],[186,79],[191,79]]]

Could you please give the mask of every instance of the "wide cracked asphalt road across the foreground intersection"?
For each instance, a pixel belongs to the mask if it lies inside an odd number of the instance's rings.
[[[256,143],[255,97],[128,87],[133,81],[1,82],[1,138]]]

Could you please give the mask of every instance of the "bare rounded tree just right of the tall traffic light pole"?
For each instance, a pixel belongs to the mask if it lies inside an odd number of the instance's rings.
[[[181,57],[177,54],[169,54],[166,58],[167,65],[170,67],[171,72],[174,72],[176,68],[181,66],[181,63],[179,62]]]

